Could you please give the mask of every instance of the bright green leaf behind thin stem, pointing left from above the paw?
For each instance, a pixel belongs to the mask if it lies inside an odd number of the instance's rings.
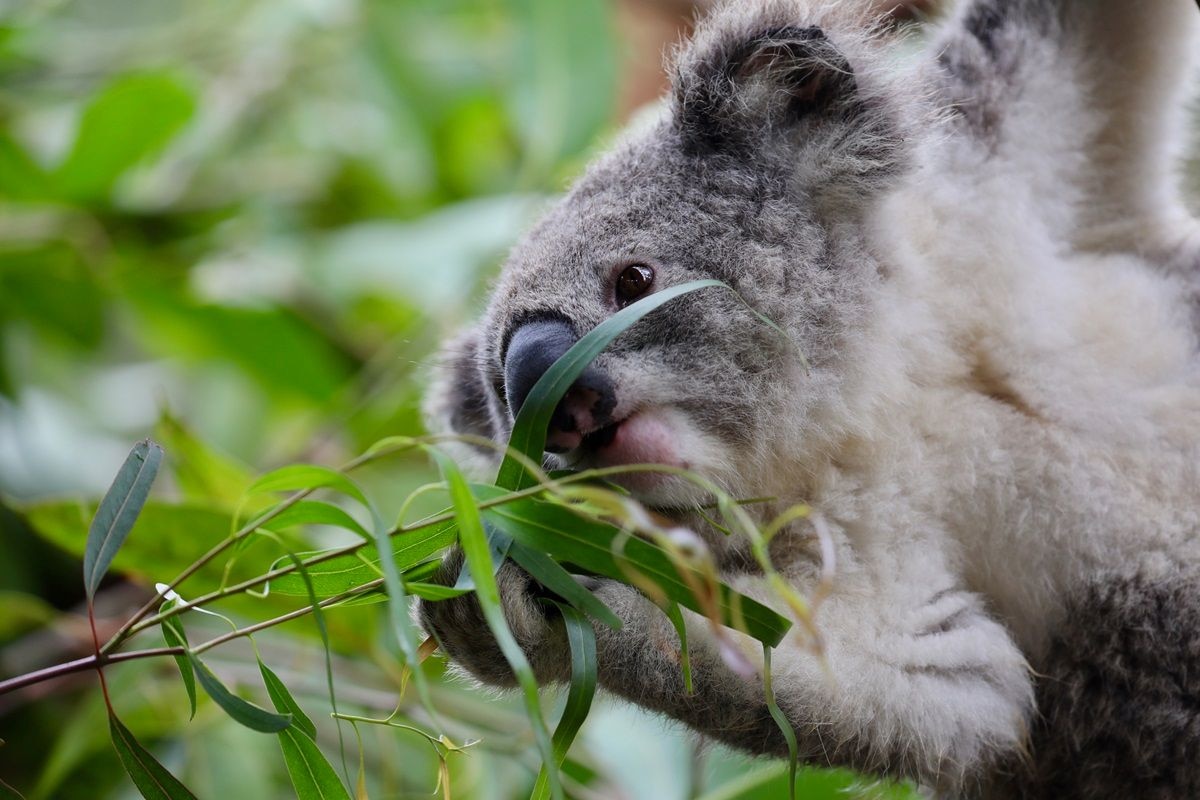
[[[434,553],[450,547],[457,539],[457,525],[454,522],[443,522],[437,525],[392,536],[391,553],[396,563],[396,569],[407,570],[416,564],[421,564]],[[311,558],[312,554],[308,555]],[[362,547],[358,553],[338,555],[308,567],[308,577],[312,579],[313,591],[317,593],[317,597],[319,599],[332,597],[349,591],[355,587],[377,581],[382,573],[383,567],[379,561],[379,551],[370,545]],[[272,579],[270,589],[281,595],[307,594],[304,581],[295,572]]]

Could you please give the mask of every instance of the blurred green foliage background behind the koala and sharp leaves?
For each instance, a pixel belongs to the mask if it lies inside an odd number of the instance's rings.
[[[132,441],[163,443],[167,501],[114,565],[134,583],[101,591],[109,624],[227,535],[258,471],[421,432],[437,343],[616,124],[614,19],[607,0],[0,0],[0,673],[89,651],[78,553],[89,504]],[[356,477],[395,517],[433,473],[394,459]],[[251,548],[187,590],[275,558]],[[287,607],[242,597],[224,610]],[[383,606],[326,618],[340,703],[385,716],[400,675]],[[193,638],[228,630],[188,626]],[[258,646],[353,771],[356,742],[328,718],[312,625]],[[209,663],[260,686],[245,643]],[[187,722],[170,660],[108,674],[122,720],[199,796],[289,796],[272,738],[208,702]],[[451,756],[455,796],[527,795],[536,759],[514,698],[443,680],[434,693],[456,741],[482,739]],[[430,794],[427,742],[361,734],[372,798]],[[0,698],[0,776],[30,799],[133,796],[94,675]],[[784,792],[776,768],[745,776],[743,759],[701,758],[689,741],[601,708],[572,751],[572,786]],[[803,796],[853,783],[814,772]]]

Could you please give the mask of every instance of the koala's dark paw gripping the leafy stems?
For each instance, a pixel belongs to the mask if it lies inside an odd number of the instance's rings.
[[[462,563],[462,553],[454,551],[433,582],[452,585]],[[541,603],[541,587],[512,563],[505,563],[497,571],[496,582],[509,630],[538,680],[565,680],[570,670],[566,634],[562,620],[547,614]],[[421,627],[438,639],[446,655],[472,675],[493,686],[516,686],[516,675],[492,636],[474,593],[450,600],[421,600],[416,616]]]

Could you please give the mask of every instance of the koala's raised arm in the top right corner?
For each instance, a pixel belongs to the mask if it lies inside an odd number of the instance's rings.
[[[1198,5],[958,4],[931,50],[964,134],[946,151],[950,174],[964,187],[1020,176],[1032,217],[1076,248],[1195,270],[1200,224],[1182,201],[1180,160]]]

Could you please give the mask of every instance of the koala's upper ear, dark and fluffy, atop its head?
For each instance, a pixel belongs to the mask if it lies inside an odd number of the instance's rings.
[[[806,120],[850,121],[858,85],[818,26],[746,28],[714,20],[674,71],[676,120],[698,154],[752,148]]]

